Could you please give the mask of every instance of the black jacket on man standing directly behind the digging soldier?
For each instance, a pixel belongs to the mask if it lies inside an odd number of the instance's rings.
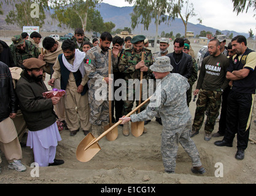
[[[186,53],[182,52],[182,58],[180,61],[179,70],[176,70],[174,67],[175,62],[174,62],[173,53],[169,53],[166,56],[168,56],[171,59],[171,65],[174,68],[172,73],[180,74],[185,78],[191,77],[193,62],[192,62],[192,57],[190,55],[187,55]]]

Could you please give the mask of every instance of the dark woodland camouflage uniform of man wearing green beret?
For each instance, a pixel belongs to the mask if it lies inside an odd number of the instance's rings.
[[[142,52],[144,53],[144,62],[145,66],[150,67],[153,64],[152,59],[152,53],[149,49],[143,48]],[[129,92],[129,80],[138,79],[141,80],[141,71],[139,69],[135,69],[136,64],[138,64],[141,61],[141,53],[137,54],[134,51],[134,48],[127,48],[125,51],[123,51],[123,54],[120,58],[120,62],[118,64],[118,69],[121,73],[124,75],[124,79],[126,81],[126,100],[124,100],[123,105],[123,115],[127,115],[133,108],[133,103],[135,100],[135,94],[138,95],[139,91],[139,83],[136,83],[136,85],[133,85],[133,92]],[[149,69],[148,72],[143,73],[143,79],[146,81],[149,80],[150,75],[152,74],[152,71]],[[145,81],[144,81],[145,85]],[[138,90],[138,91],[137,91]],[[135,92],[136,91],[136,92]],[[142,88],[142,98],[147,97],[147,89]],[[138,97],[137,97],[138,100]],[[145,100],[145,99],[144,99]],[[138,105],[138,101],[136,101]],[[145,106],[141,108],[141,110],[144,110]]]

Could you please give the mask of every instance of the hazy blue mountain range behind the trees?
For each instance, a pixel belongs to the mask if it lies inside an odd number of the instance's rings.
[[[133,12],[134,7],[116,7],[111,6],[106,3],[101,3],[96,6],[96,9],[99,10],[101,13],[101,17],[103,17],[104,22],[112,21],[112,23],[115,24],[115,29],[123,29],[125,27],[131,27],[131,16],[130,14]],[[10,30],[20,30],[16,25],[7,25],[4,21],[6,18],[6,15],[9,13],[9,11],[12,9],[10,5],[3,4],[2,10],[4,10],[4,15],[0,15],[0,29],[10,29]],[[153,38],[155,36],[155,20],[152,18],[152,23],[149,25],[148,30],[144,30],[143,25],[138,25],[135,29],[132,30],[133,34],[144,34],[145,36],[149,38]],[[68,29],[65,26],[62,28],[58,27],[57,24],[55,25],[55,29],[58,32],[72,32],[73,29]],[[53,31],[53,23],[52,19],[50,18],[50,14],[47,14],[47,18],[45,19],[45,25],[42,26],[41,31]],[[193,31],[195,36],[199,35],[201,31],[210,31],[212,34],[215,34],[216,31],[220,31],[219,29],[214,29],[209,26],[204,26],[200,24],[193,24],[189,23],[187,25],[187,31]],[[182,20],[180,18],[176,18],[173,21],[169,21],[169,25],[166,23],[161,23],[158,28],[158,34],[160,35],[162,31],[165,31],[166,33],[169,33],[173,31],[173,35],[175,36],[177,33],[180,33],[182,36],[184,36],[184,24],[182,23]],[[233,36],[237,36],[239,34],[242,34],[243,36],[249,37],[249,34],[246,32],[236,32],[236,31],[220,31],[222,34],[231,34],[233,33]]]

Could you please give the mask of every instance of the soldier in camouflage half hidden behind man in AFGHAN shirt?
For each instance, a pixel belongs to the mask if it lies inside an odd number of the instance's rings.
[[[189,55],[189,51],[190,51],[190,46],[188,45],[188,43],[184,43],[183,52]],[[187,91],[187,105],[188,105],[188,107],[189,107],[189,104],[192,100],[192,87],[193,87],[195,81],[198,78],[197,72],[198,72],[198,66],[196,64],[196,59],[192,57],[191,77],[188,78],[188,83],[190,85],[190,88]]]

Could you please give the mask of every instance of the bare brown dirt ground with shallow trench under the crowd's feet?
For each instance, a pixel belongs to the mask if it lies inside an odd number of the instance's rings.
[[[195,46],[196,48],[196,46]],[[198,48],[196,49],[198,50]],[[195,85],[194,85],[195,88]],[[195,115],[195,102],[191,102],[190,111]],[[255,105],[256,106],[256,105]],[[250,128],[250,138],[256,140],[256,125],[254,111]],[[90,161],[79,162],[76,159],[76,148],[85,137],[80,130],[74,137],[69,136],[68,130],[61,132],[62,140],[58,143],[56,158],[63,159],[65,163],[55,167],[39,169],[39,177],[32,177],[30,167],[33,163],[33,151],[29,147],[22,148],[23,164],[27,170],[18,173],[7,168],[4,154],[2,157],[2,184],[248,184],[256,182],[255,150],[256,145],[249,142],[245,151],[244,160],[236,160],[236,137],[233,148],[218,147],[214,141],[222,138],[212,138],[204,141],[204,126],[200,134],[193,137],[193,141],[200,153],[201,162],[206,168],[204,175],[194,175],[190,168],[192,162],[182,146],[177,153],[176,173],[164,173],[161,159],[161,129],[155,119],[147,124],[147,134],[141,137],[122,135],[122,127],[118,126],[118,138],[107,141],[106,137],[99,140],[99,151]],[[215,125],[217,132],[219,123]],[[223,165],[223,177],[216,177],[220,163]],[[217,171],[216,171],[217,170]],[[33,173],[33,172],[32,172]]]

